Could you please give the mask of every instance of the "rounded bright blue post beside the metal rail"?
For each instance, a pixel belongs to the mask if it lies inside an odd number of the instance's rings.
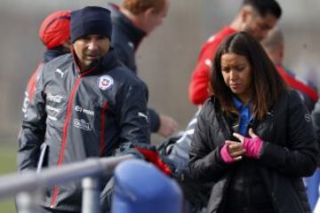
[[[141,160],[120,163],[115,170],[112,213],[181,213],[179,185],[152,164]]]

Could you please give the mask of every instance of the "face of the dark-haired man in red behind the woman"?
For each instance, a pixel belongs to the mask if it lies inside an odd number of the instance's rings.
[[[261,41],[275,27],[276,22],[276,17],[270,13],[262,17],[257,12],[251,12],[245,20],[243,30]]]

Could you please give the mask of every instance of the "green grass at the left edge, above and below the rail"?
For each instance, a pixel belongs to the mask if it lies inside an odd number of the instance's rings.
[[[0,175],[15,172],[16,147],[0,143]],[[1,213],[14,213],[13,198],[0,200]]]

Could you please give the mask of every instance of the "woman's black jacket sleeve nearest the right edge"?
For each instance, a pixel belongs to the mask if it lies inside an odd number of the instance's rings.
[[[287,107],[286,146],[264,142],[260,162],[286,176],[308,177],[316,170],[317,154],[311,116],[295,91]]]

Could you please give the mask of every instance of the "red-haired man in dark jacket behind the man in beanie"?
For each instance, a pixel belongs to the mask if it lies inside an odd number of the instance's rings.
[[[168,0],[124,0],[122,6],[110,4],[113,32],[111,43],[124,66],[137,74],[135,52],[142,39],[163,22],[169,7]],[[150,130],[167,138],[178,130],[172,117],[148,108]]]

